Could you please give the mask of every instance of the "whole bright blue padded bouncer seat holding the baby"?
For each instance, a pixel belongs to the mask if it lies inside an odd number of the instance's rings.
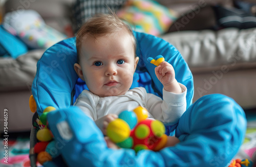
[[[226,166],[244,139],[243,109],[221,94],[203,96],[192,104],[193,76],[179,51],[158,37],[138,32],[134,35],[140,61],[132,88],[144,87],[148,93],[162,96],[163,87],[155,75],[155,66],[147,62],[148,57],[159,54],[173,65],[178,82],[187,87],[186,112],[177,125],[166,127],[166,133],[175,133],[181,142],[158,152],[135,153],[132,149],[106,147],[96,124],[72,106],[87,87],[73,68],[77,59],[76,39],[70,38],[53,45],[42,55],[32,85],[39,116],[48,106],[57,108],[48,114],[47,120],[55,140],[59,141],[60,155],[44,166]],[[67,126],[66,136],[58,128],[63,122]],[[31,147],[36,142],[34,133],[32,128]],[[32,156],[31,162],[35,164]]]

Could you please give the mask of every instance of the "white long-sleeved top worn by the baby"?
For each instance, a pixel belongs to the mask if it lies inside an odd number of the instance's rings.
[[[142,87],[127,91],[124,95],[99,97],[88,90],[82,91],[74,105],[78,106],[94,121],[108,114],[118,115],[124,110],[133,110],[141,105],[145,107],[149,117],[163,122],[165,125],[176,124],[186,110],[186,92],[180,84],[182,93],[176,94],[163,89],[163,100]]]

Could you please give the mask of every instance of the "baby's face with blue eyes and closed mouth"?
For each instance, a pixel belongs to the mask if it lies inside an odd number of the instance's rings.
[[[80,51],[80,78],[100,97],[123,95],[132,85],[138,60],[126,32],[97,39],[87,36]]]

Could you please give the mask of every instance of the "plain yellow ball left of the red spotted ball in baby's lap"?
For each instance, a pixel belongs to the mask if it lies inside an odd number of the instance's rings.
[[[106,127],[106,135],[115,143],[120,143],[130,136],[130,126],[122,119],[115,119]]]

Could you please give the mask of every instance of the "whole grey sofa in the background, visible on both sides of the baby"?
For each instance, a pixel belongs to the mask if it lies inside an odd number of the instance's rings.
[[[27,5],[26,9],[35,9],[48,25],[65,32],[64,27],[71,23],[72,3],[73,0],[38,0]],[[182,14],[198,1],[161,0],[160,3]],[[5,10],[8,12],[19,6],[22,6],[20,1],[9,0]],[[256,28],[180,31],[161,36],[177,47],[193,72],[194,101],[206,94],[221,93],[245,109],[256,108],[255,37]],[[36,63],[43,52],[33,50],[16,60],[0,58],[0,115],[4,115],[4,109],[8,108],[9,132],[31,130],[33,113],[29,108],[29,97]],[[1,132],[3,126],[1,124]]]

